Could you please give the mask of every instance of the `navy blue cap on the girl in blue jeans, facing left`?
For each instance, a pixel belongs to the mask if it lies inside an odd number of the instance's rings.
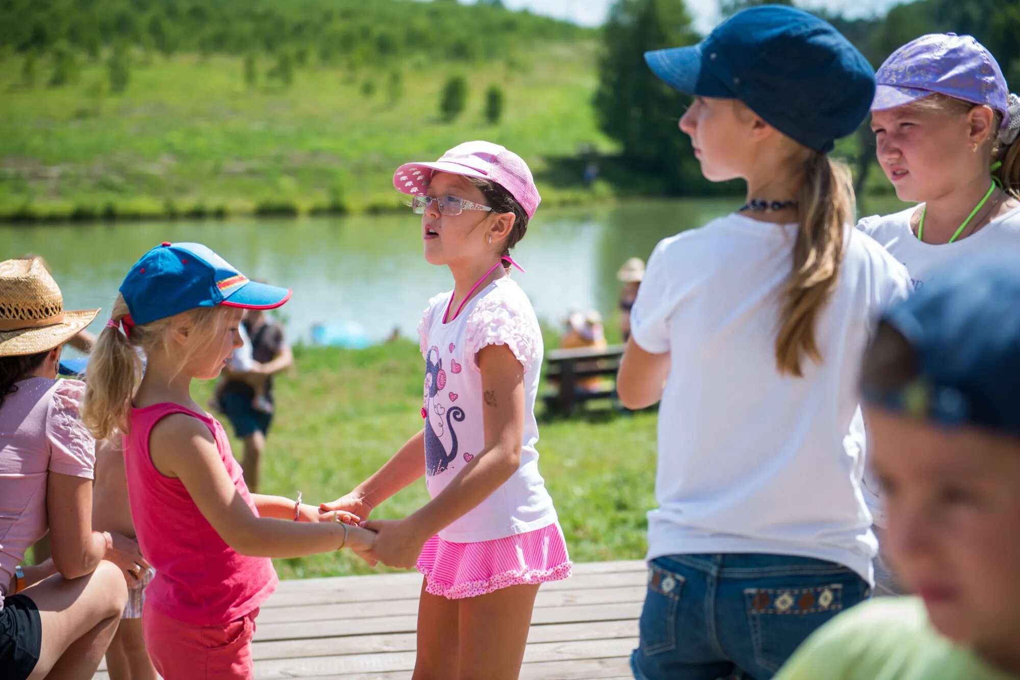
[[[875,71],[830,23],[785,5],[733,14],[698,45],[645,53],[666,84],[738,99],[809,149],[832,151],[857,129],[875,96]]]

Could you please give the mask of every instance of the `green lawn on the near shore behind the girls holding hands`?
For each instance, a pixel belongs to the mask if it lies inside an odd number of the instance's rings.
[[[296,355],[296,369],[277,383],[261,491],[294,498],[301,490],[307,502],[333,500],[421,427],[423,361],[406,340],[364,351],[298,348]],[[201,386],[202,400],[210,390]],[[638,559],[646,548],[645,512],[654,503],[655,414],[598,408],[570,420],[540,419],[540,468],[573,560]],[[240,457],[240,442],[232,444]],[[372,516],[403,517],[427,500],[419,480]],[[277,560],[276,569],[283,578],[373,571],[347,551]]]

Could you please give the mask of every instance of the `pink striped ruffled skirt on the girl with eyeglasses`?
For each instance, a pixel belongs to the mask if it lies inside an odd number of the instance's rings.
[[[477,543],[434,535],[421,549],[418,571],[425,591],[448,600],[474,598],[509,585],[558,581],[570,576],[570,558],[559,523]]]

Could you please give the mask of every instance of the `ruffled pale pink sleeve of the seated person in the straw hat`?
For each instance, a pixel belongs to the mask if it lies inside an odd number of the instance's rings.
[[[96,469],[96,441],[82,422],[80,409],[84,397],[85,383],[58,382],[46,418],[46,439],[51,472],[92,479]]]

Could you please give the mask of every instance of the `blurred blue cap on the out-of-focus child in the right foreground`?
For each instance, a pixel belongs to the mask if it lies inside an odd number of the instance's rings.
[[[975,258],[932,274],[882,318],[914,349],[917,376],[864,399],[949,427],[1020,437],[1020,271]]]

